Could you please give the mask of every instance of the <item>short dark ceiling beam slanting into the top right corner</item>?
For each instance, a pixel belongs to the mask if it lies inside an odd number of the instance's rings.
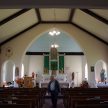
[[[94,12],[88,10],[88,9],[81,9],[81,10],[82,10],[83,12],[89,14],[90,16],[96,18],[97,20],[99,20],[99,21],[101,21],[101,22],[103,22],[103,23],[105,23],[105,24],[108,24],[108,20],[107,20],[107,19],[105,19],[105,18],[103,18],[103,17],[97,15],[96,13],[94,13]]]

